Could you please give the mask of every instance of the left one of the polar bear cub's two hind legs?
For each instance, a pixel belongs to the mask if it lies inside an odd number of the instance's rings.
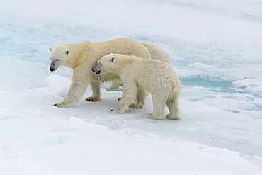
[[[162,120],[164,118],[164,111],[166,103],[161,100],[161,96],[152,94],[153,100],[153,113],[147,113],[144,115],[145,118],[151,118],[154,120]]]

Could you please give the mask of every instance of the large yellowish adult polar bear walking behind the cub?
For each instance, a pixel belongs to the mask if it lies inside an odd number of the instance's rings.
[[[147,48],[149,47],[149,48]],[[156,50],[152,52],[152,48]],[[156,53],[166,53],[160,47],[150,43],[139,43],[136,40],[129,38],[119,38],[115,40],[108,40],[101,43],[91,43],[84,41],[76,44],[64,44],[57,47],[50,48],[50,71],[55,71],[58,67],[64,66],[73,69],[72,84],[67,92],[64,100],[60,103],[55,103],[54,106],[59,108],[69,108],[74,106],[83,96],[88,85],[91,86],[92,95],[86,98],[86,101],[100,101],[101,82],[115,81],[119,82],[120,77],[116,74],[94,74],[92,67],[96,62],[110,53],[117,53],[123,55],[136,55],[144,59],[151,59],[156,57]],[[150,50],[152,55],[150,54]],[[168,54],[167,54],[168,55]],[[156,57],[156,59],[161,59]],[[164,57],[163,61],[169,60],[170,57]]]

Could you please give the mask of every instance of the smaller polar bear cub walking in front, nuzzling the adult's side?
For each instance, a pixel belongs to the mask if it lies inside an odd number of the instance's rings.
[[[166,118],[180,119],[178,97],[181,82],[176,72],[166,62],[110,54],[98,60],[93,72],[118,74],[123,82],[123,96],[119,108],[111,110],[113,113],[125,113],[128,106],[136,101],[137,91],[142,89],[152,94],[153,101],[153,113],[144,115],[146,118],[163,119],[164,109],[167,106],[170,113]]]

